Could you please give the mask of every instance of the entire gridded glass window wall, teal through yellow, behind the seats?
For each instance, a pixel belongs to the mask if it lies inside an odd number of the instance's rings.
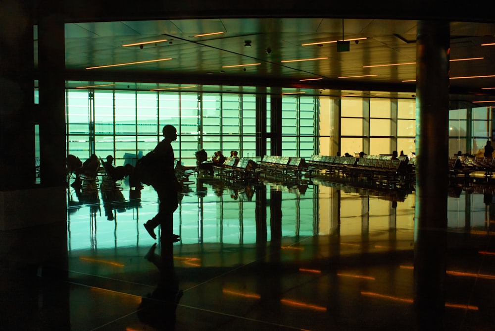
[[[196,165],[195,152],[201,148],[208,156],[221,150],[226,156],[238,151],[241,157],[256,157],[255,95],[77,89],[66,93],[67,153],[83,161],[95,153],[101,158],[112,155],[115,165],[134,165],[163,138],[165,124],[178,128],[180,135],[173,146],[176,158],[185,165]],[[270,132],[269,96],[266,102]],[[309,159],[337,151],[342,155],[415,151],[414,100],[342,98],[340,123],[334,125],[338,104],[326,97],[284,96],[283,156]],[[487,109],[474,109],[473,114],[474,149],[488,136]],[[451,124],[460,125],[466,112],[451,111],[451,115],[457,116]],[[453,134],[451,138],[465,144],[465,136]],[[269,155],[270,140],[266,143]],[[465,150],[465,145],[461,147],[454,149]]]

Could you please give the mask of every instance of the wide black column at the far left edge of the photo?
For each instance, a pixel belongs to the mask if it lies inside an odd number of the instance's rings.
[[[0,191],[35,181],[33,8],[30,1],[1,1]]]

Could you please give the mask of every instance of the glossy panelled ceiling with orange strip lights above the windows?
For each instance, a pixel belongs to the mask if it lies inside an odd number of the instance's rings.
[[[194,37],[213,32],[223,34]],[[98,77],[112,77],[118,73],[119,79],[122,79],[126,73],[132,73],[133,77],[153,76],[156,81],[161,75],[164,83],[167,79],[181,76],[190,77],[184,80],[191,83],[211,80],[221,82],[222,77],[225,77],[231,84],[236,81],[234,77],[238,77],[238,81],[243,84],[252,81],[255,85],[256,82],[258,84],[266,80],[281,86],[293,86],[301,78],[319,77],[324,79],[300,84],[311,84],[316,89],[320,87],[323,91],[337,93],[335,91],[339,89],[334,88],[336,82],[342,82],[343,89],[346,90],[352,85],[358,89],[363,83],[367,87],[376,83],[377,91],[384,86],[395,86],[395,90],[403,87],[406,95],[410,95],[411,83],[403,81],[416,78],[414,64],[363,67],[415,62],[414,20],[229,18],[73,23],[66,24],[65,36],[66,68],[71,72],[85,72],[85,68],[92,66],[172,58],[92,69],[92,72],[98,72]],[[351,41],[349,52],[338,52],[336,43],[301,46],[306,43],[336,41],[343,37],[367,39]],[[142,44],[141,47],[122,47],[124,44],[161,39],[167,41]],[[245,46],[246,41],[250,41],[250,47]],[[451,59],[483,57],[481,60],[451,62],[451,76],[495,75],[495,46],[481,46],[488,42],[495,42],[495,24],[451,23]],[[35,47],[36,45],[35,43]],[[327,59],[282,62],[315,57]],[[250,63],[260,64],[247,66]],[[223,68],[236,64],[246,66]],[[373,76],[338,78],[359,75]],[[450,86],[464,90],[466,95],[473,98],[485,98],[477,93],[495,93],[495,90],[482,90],[483,87],[494,86],[493,81],[493,77],[451,79]],[[328,86],[332,88],[329,89]]]

